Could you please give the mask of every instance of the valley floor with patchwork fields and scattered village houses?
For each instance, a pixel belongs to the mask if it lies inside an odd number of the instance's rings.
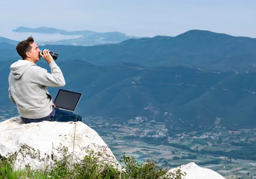
[[[231,131],[215,127],[205,132],[183,132],[169,137],[163,123],[144,121],[142,117],[133,118],[128,123],[116,124],[100,116],[88,116],[84,118],[84,123],[102,136],[117,159],[125,153],[134,156],[140,163],[153,159],[162,167],[177,167],[195,162],[227,178],[246,177],[248,172],[249,176],[256,176],[255,158],[249,159],[250,154],[244,153],[246,159],[239,159],[235,155],[216,156],[218,151],[229,153],[232,150],[243,150],[246,144],[253,144],[255,147],[256,129]]]

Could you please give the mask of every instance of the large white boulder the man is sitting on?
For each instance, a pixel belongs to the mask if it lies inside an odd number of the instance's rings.
[[[77,123],[43,121],[24,124],[18,116],[0,122],[0,155],[7,157],[8,153],[15,153],[25,145],[35,149],[35,152],[27,150],[30,154],[25,154],[26,158],[22,156],[22,153],[18,153],[15,168],[24,169],[29,164],[34,170],[45,169],[47,165],[54,164],[54,159],[63,159],[58,147],[67,147],[68,154],[73,152],[75,126],[73,163],[81,162],[87,155],[86,151],[93,150],[95,153],[102,153],[99,157],[100,161],[121,168],[98,133],[81,121]]]

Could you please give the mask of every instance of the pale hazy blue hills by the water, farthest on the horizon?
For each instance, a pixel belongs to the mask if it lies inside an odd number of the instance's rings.
[[[28,27],[18,27],[12,30],[13,32],[32,32],[32,33],[44,33],[44,34],[61,34],[61,35],[79,35],[79,38],[72,38],[66,40],[58,41],[44,41],[40,42],[40,45],[51,44],[51,45],[76,45],[76,46],[92,46],[106,43],[119,43],[124,40],[131,38],[141,38],[135,36],[125,35],[120,32],[105,32],[98,33],[90,30],[84,31],[71,31],[68,32],[62,29],[55,29],[49,27],[39,27],[39,28],[28,28]]]

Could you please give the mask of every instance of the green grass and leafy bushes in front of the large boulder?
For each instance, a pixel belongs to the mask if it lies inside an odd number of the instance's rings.
[[[0,158],[0,179],[181,179],[185,176],[180,168],[175,173],[169,171],[169,167],[161,168],[156,165],[153,160],[149,160],[144,164],[139,164],[134,157],[122,155],[120,162],[124,164],[122,170],[114,167],[113,164],[99,161],[101,153],[87,151],[86,156],[81,161],[72,166],[67,154],[67,147],[62,148],[62,161],[54,160],[54,166],[45,170],[31,170],[29,165],[24,170],[15,170],[14,164],[17,152],[11,154],[7,159]]]

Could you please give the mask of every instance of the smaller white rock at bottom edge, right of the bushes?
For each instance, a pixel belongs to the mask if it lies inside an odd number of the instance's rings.
[[[168,172],[175,173],[175,170],[178,168],[179,167],[172,168]],[[187,165],[181,165],[180,170],[183,173],[186,172],[186,176],[183,176],[182,179],[225,179],[217,172],[208,168],[199,167],[194,162],[188,163]]]

